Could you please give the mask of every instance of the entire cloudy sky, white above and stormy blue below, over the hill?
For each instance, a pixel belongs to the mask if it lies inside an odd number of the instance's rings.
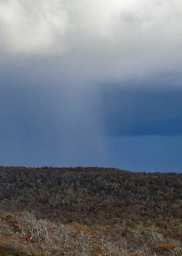
[[[0,165],[182,169],[182,2],[0,0]]]

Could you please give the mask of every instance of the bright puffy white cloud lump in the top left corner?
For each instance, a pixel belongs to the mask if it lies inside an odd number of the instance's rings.
[[[7,53],[47,55],[63,50],[67,13],[60,1],[0,1],[0,21]]]

